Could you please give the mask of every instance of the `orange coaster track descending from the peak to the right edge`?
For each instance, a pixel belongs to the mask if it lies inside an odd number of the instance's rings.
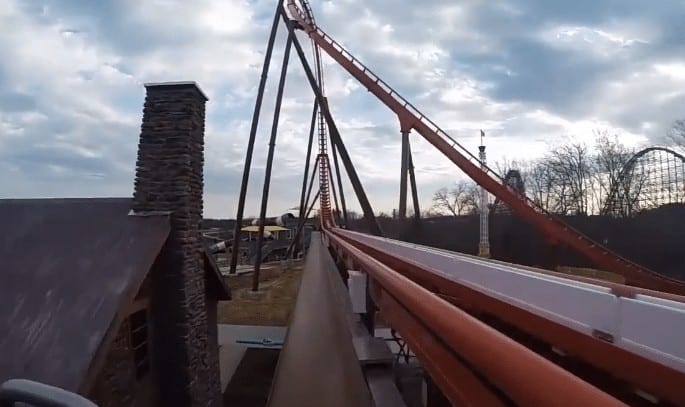
[[[622,275],[629,285],[685,295],[684,282],[660,275],[612,252],[572,228],[557,216],[547,212],[530,198],[519,194],[505,184],[495,171],[488,167],[481,169],[477,157],[318,27],[310,18],[311,11],[308,6],[305,5],[307,11],[305,13],[295,4],[294,0],[288,0],[287,5],[291,17],[297,22],[299,28],[321,50],[326,52],[397,115],[401,131],[415,130],[472,180],[506,203],[518,216],[535,225],[548,239],[564,243],[593,261],[597,266]],[[327,206],[330,207],[330,204]]]

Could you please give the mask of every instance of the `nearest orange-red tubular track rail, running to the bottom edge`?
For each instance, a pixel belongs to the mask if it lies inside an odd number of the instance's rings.
[[[421,349],[417,356],[422,363],[434,372],[440,369],[443,375],[434,379],[453,403],[470,394],[460,374],[463,371],[450,368],[450,361],[458,359],[481,378],[483,386],[496,388],[518,405],[625,405],[377,261],[334,231],[326,231],[326,236],[337,253],[368,273],[381,312],[388,314],[412,347]],[[424,343],[420,343],[422,338]],[[454,357],[443,359],[446,350]]]

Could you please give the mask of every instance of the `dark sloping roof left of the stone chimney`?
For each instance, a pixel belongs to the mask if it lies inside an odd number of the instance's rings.
[[[130,208],[130,198],[0,200],[0,382],[79,390],[169,235],[168,215]]]

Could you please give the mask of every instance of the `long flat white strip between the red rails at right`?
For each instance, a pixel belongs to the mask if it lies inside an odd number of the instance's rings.
[[[516,265],[341,230],[387,253],[586,335],[608,333],[614,345],[685,372],[685,303],[536,273]]]

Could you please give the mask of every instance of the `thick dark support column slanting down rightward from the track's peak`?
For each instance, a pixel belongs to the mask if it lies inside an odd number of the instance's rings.
[[[359,180],[357,171],[354,169],[354,166],[352,165],[352,160],[350,159],[350,156],[347,153],[347,149],[345,148],[345,145],[343,144],[342,139],[340,138],[340,133],[338,133],[338,127],[335,125],[335,122],[333,121],[333,117],[331,116],[331,112],[328,110],[328,106],[326,106],[324,97],[321,94],[321,89],[319,89],[319,85],[317,85],[316,83],[316,79],[314,77],[314,74],[312,73],[312,69],[309,66],[309,63],[307,62],[307,57],[304,55],[304,51],[302,50],[302,45],[295,36],[295,29],[293,27],[295,24],[290,21],[285,12],[285,9],[283,9],[282,6],[279,7],[279,10],[281,12],[281,17],[283,18],[283,21],[288,27],[290,37],[292,37],[293,39],[293,45],[295,46],[295,50],[297,51],[298,57],[300,58],[300,62],[302,63],[302,67],[304,68],[307,79],[309,80],[309,84],[312,87],[312,91],[314,91],[316,99],[319,102],[321,112],[323,113],[324,118],[326,119],[326,124],[328,125],[328,130],[330,131],[331,141],[340,153],[340,159],[343,161],[343,165],[345,166],[347,175],[350,177],[350,182],[352,183],[354,192],[357,195],[357,199],[359,199],[359,204],[361,205],[362,211],[364,212],[364,219],[368,224],[369,232],[376,236],[382,236],[381,228],[378,225],[376,217],[373,214],[373,209],[371,208],[369,199],[367,198],[366,193],[364,192],[364,188],[362,187],[361,181]]]

